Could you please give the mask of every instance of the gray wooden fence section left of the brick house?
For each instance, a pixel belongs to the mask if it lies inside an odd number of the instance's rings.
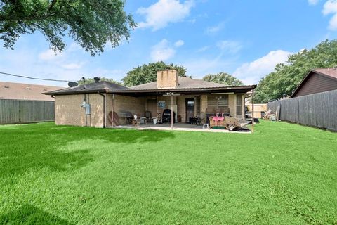
[[[53,121],[53,101],[0,99],[0,124]]]

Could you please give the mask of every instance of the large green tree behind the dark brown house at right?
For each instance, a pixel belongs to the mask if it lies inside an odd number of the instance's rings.
[[[286,63],[276,65],[273,72],[260,80],[254,100],[267,103],[290,96],[311,69],[336,66],[337,40],[322,41],[315,48],[299,51],[289,56]]]

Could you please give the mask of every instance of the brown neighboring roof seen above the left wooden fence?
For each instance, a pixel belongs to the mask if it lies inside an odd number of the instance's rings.
[[[46,91],[55,91],[58,89],[62,89],[62,87],[0,82],[0,99],[54,101],[54,98],[51,98],[51,96],[46,96],[42,93]]]

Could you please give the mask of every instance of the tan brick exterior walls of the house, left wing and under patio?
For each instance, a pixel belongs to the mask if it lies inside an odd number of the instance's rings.
[[[197,96],[199,97],[199,96]],[[152,97],[140,97],[135,98],[131,96],[106,94],[107,112],[106,115],[112,111],[112,104],[114,106],[114,112],[131,112],[132,115],[144,116],[145,110],[148,110],[147,99],[156,98],[156,102],[165,101],[166,107],[171,109],[171,96],[152,96]],[[173,109],[176,111],[176,115],[180,115],[182,122],[186,120],[186,108],[185,99],[194,98],[196,103],[196,96],[182,95],[173,96]],[[233,117],[236,115],[237,95],[230,94],[228,96],[228,103],[230,113]],[[200,112],[204,113],[207,109],[207,95],[200,96]],[[59,125],[74,125],[74,126],[90,126],[90,127],[103,127],[103,96],[98,94],[86,94],[87,103],[91,104],[91,115],[85,114],[85,109],[81,108],[81,104],[84,101],[84,94],[55,96],[55,124]],[[197,106],[197,104],[195,104]],[[157,117],[157,113],[162,113],[165,108],[159,108],[157,105],[157,112],[152,112],[152,117]],[[152,110],[154,108],[152,107]],[[242,112],[244,112],[244,95],[242,96]],[[197,115],[197,108],[194,115]],[[244,118],[244,113],[240,116]],[[108,118],[106,118],[107,126],[110,125]],[[124,118],[119,118],[119,124],[126,124]]]

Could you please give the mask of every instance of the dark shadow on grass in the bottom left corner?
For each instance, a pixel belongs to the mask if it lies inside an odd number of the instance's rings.
[[[66,221],[65,219],[55,217],[54,215],[29,204],[22,205],[20,209],[8,212],[7,214],[1,214],[0,224],[71,225],[70,222]]]

